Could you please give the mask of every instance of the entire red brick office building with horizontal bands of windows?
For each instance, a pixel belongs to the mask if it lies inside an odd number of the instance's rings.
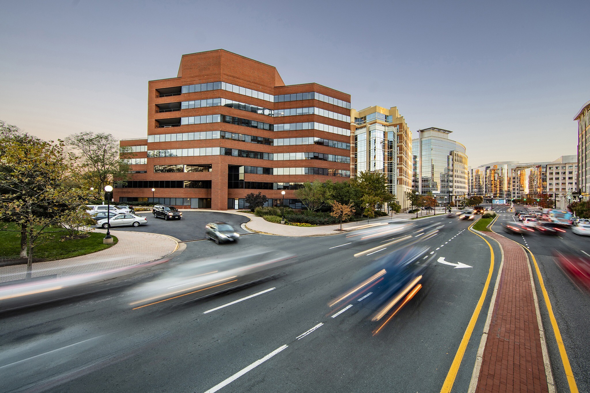
[[[176,78],[148,83],[148,138],[120,145],[132,174],[116,201],[243,209],[248,193],[277,205],[284,190],[299,208],[304,181],[350,177],[350,95],[285,85],[271,65],[222,49],[183,55]]]

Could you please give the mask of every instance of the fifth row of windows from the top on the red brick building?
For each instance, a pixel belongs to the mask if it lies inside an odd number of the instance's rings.
[[[337,156],[336,154],[304,152],[304,153],[263,153],[261,151],[241,150],[227,147],[201,147],[201,148],[176,148],[165,150],[148,150],[148,157],[194,157],[194,156],[233,156],[244,158],[257,158],[259,160],[322,160],[333,161],[337,163],[350,164],[349,156]],[[146,160],[146,158],[127,158],[122,160],[124,163],[129,160]],[[141,161],[146,164],[147,162]],[[137,163],[139,164],[139,163]]]

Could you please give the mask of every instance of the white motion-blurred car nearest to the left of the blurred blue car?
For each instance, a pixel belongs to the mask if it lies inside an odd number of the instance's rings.
[[[279,275],[294,262],[294,255],[263,248],[222,258],[192,260],[131,289],[127,296],[134,309],[186,295],[196,300]]]

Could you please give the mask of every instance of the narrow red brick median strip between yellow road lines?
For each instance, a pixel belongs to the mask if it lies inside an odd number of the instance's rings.
[[[517,243],[496,233],[504,266],[476,392],[548,392],[529,262]]]

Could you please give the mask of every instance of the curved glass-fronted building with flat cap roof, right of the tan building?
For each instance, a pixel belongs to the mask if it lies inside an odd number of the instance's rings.
[[[425,128],[412,141],[413,186],[420,194],[432,193],[441,206],[456,205],[468,192],[466,148],[449,138],[452,132]]]

